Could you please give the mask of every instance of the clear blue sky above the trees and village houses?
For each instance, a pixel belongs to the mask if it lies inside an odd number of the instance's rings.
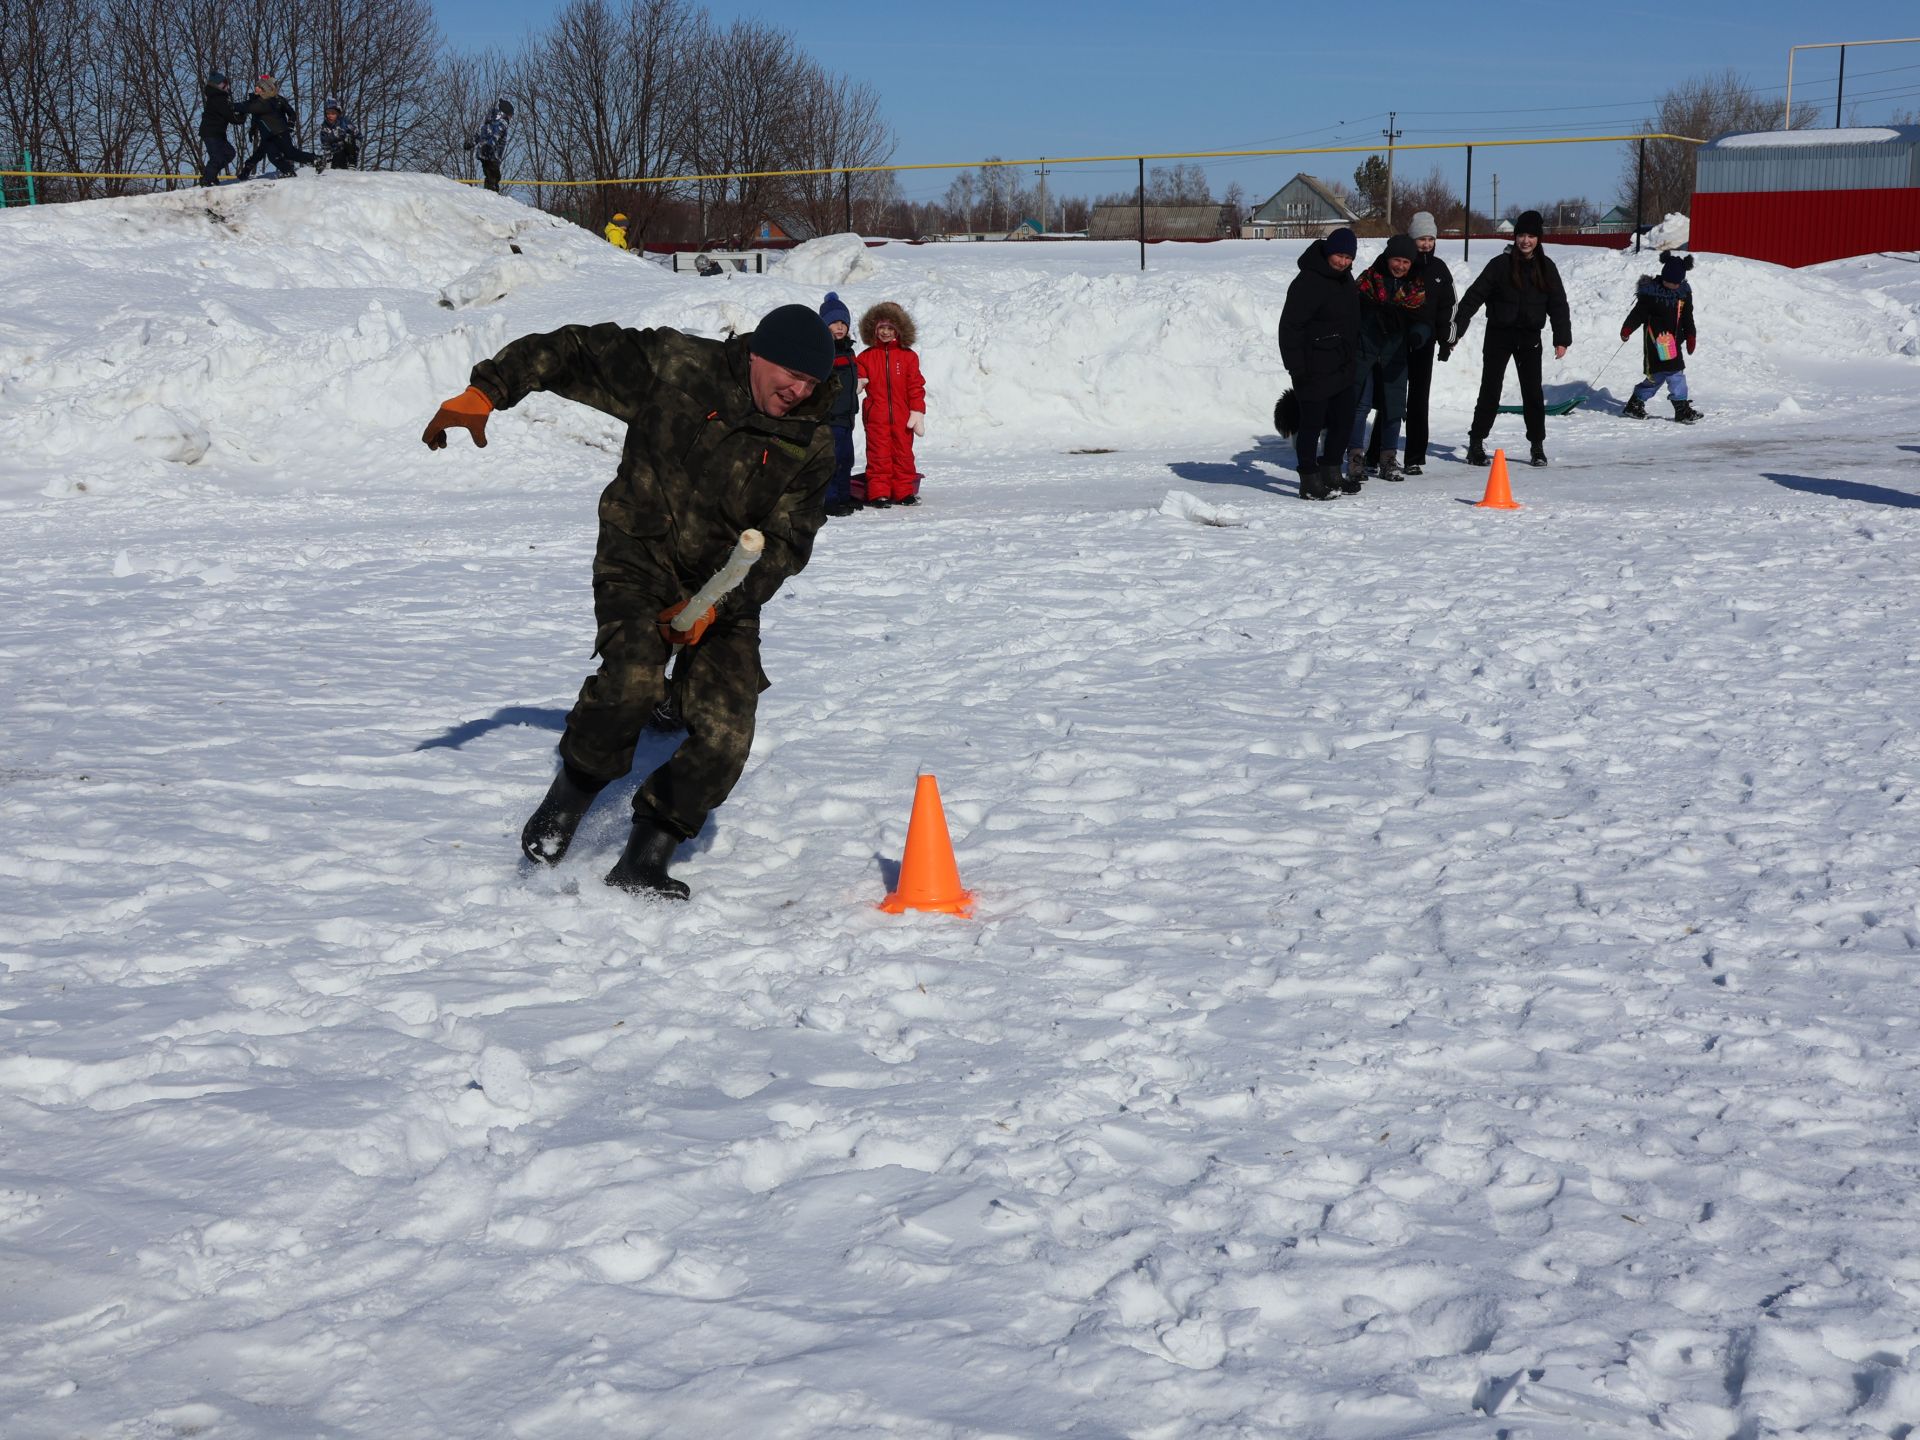
[[[515,46],[553,0],[442,0],[467,44]],[[1912,0],[1857,0],[1832,23],[1788,0],[1668,8],[1317,4],[1221,0],[1146,4],[795,6],[710,0],[720,21],[781,25],[833,69],[872,83],[899,132],[897,161],[983,156],[1110,156],[1181,150],[1380,142],[1398,111],[1402,144],[1640,129],[1655,98],[1692,75],[1732,67],[1780,92],[1788,46],[1920,35]],[[1803,52],[1793,94],[1828,108],[1837,52]],[[1920,109],[1920,44],[1847,52],[1849,109],[1878,123]],[[1382,142],[1384,144],[1384,142]],[[1265,198],[1294,171],[1350,179],[1361,156],[1215,161],[1215,194],[1238,180]],[[1434,163],[1461,182],[1461,154],[1409,154],[1402,173]],[[1615,198],[1620,148],[1476,150],[1475,204],[1584,194]],[[906,175],[914,198],[939,196],[952,173]],[[1068,194],[1117,190],[1133,165],[1062,169]]]

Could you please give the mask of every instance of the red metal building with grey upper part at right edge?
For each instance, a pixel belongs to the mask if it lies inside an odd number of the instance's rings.
[[[1692,250],[1774,265],[1920,250],[1920,125],[1722,134],[1690,219]]]

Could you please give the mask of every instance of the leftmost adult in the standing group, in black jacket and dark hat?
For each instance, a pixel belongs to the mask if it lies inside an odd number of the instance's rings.
[[[1300,275],[1286,286],[1281,309],[1281,363],[1300,401],[1294,463],[1302,499],[1329,499],[1340,478],[1340,451],[1354,426],[1354,380],[1359,372],[1359,292],[1354,253],[1359,242],[1344,225],[1300,255]]]

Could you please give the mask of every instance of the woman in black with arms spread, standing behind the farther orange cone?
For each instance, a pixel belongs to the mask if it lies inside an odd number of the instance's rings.
[[[1548,463],[1548,397],[1540,388],[1540,332],[1553,324],[1553,359],[1572,346],[1572,317],[1567,313],[1567,286],[1559,269],[1540,250],[1540,211],[1530,209],[1513,223],[1513,244],[1467,288],[1453,317],[1453,344],[1467,330],[1473,313],[1486,305],[1486,348],[1480,353],[1480,399],[1473,407],[1473,428],[1467,432],[1467,463],[1486,465],[1486,436],[1500,411],[1500,386],[1507,378],[1507,361],[1521,376],[1521,409],[1526,417],[1526,440],[1532,442],[1532,463]]]

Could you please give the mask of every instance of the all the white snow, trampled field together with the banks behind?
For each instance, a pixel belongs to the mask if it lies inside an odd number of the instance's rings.
[[[1478,326],[1425,478],[1294,499],[1294,253],[0,213],[0,1434],[1914,1432],[1920,265],[1701,257],[1688,430],[1563,252],[1492,513]],[[772,607],[691,904],[630,787],[528,874],[618,434],[420,426],[829,286],[925,503]],[[874,908],[920,770],[973,920]]]

